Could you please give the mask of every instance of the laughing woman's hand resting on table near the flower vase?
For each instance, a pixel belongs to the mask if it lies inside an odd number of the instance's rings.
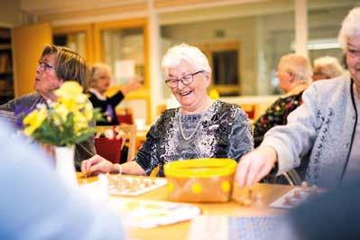
[[[84,175],[118,171],[117,166],[105,158],[95,155],[81,162],[81,172]]]

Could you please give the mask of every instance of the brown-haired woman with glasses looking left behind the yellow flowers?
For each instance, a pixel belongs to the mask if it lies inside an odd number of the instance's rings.
[[[65,47],[46,45],[42,50],[33,88],[35,92],[15,98],[0,110],[24,115],[31,112],[38,104],[46,104],[49,100],[56,101],[54,90],[60,88],[65,81],[75,80],[87,88],[90,70],[87,62],[78,53]],[[94,123],[95,125],[95,123]],[[91,137],[75,146],[75,164],[80,169],[80,162],[95,154],[94,138]]]

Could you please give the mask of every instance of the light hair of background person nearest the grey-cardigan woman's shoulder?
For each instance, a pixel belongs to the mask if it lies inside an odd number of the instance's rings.
[[[314,60],[314,74],[326,75],[328,78],[337,78],[343,74],[343,68],[337,58],[325,56]]]

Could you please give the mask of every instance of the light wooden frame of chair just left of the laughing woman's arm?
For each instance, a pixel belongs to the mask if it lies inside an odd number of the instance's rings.
[[[134,160],[136,153],[136,125],[97,126],[96,137],[105,134],[109,129],[114,131],[116,137],[123,139],[121,149],[124,147],[125,143],[128,143],[129,151],[127,153],[126,162]]]

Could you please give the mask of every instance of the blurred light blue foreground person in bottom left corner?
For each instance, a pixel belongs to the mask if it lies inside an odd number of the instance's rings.
[[[120,217],[61,185],[40,149],[0,122],[0,239],[124,239]]]

